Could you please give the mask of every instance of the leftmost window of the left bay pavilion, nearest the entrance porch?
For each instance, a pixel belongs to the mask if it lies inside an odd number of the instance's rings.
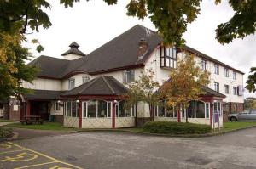
[[[79,116],[79,104],[76,101],[67,101],[64,103],[64,115],[67,117]]]

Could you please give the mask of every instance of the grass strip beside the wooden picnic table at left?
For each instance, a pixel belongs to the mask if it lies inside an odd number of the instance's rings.
[[[36,130],[75,131],[75,128],[63,127],[59,122],[44,122],[43,125],[22,125],[20,122],[5,125],[3,127],[27,128]]]

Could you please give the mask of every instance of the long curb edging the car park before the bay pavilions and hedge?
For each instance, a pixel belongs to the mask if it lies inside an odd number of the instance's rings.
[[[252,127],[244,127],[244,128],[237,128],[234,130],[230,131],[225,131],[225,132],[211,132],[207,134],[158,134],[158,133],[150,133],[150,132],[136,132],[136,131],[131,131],[131,130],[124,130],[124,129],[86,129],[86,130],[78,130],[74,131],[71,133],[77,133],[77,132],[130,132],[130,133],[135,133],[139,135],[145,135],[145,136],[159,136],[159,137],[167,137],[167,138],[205,138],[205,137],[212,137],[212,136],[217,136],[217,135],[224,135],[229,132],[236,132],[240,130],[244,130],[247,128],[253,128],[256,126]]]

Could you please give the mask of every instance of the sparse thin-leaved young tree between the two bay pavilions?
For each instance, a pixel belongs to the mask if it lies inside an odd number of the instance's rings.
[[[126,94],[128,107],[138,103],[146,103],[149,106],[150,120],[154,121],[154,106],[159,101],[159,93],[156,90],[159,83],[154,81],[154,71],[145,70],[142,75],[133,83],[129,83],[129,92]]]

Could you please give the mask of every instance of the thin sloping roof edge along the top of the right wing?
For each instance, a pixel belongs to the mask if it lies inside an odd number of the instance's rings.
[[[191,48],[191,47],[188,47],[188,46],[185,46],[184,47],[185,50],[188,50],[192,53],[195,53],[195,54],[198,54],[199,56],[201,56],[202,58],[205,58],[207,60],[211,60],[214,64],[218,64],[218,65],[223,65],[224,67],[226,68],[229,68],[230,70],[236,70],[235,68],[231,67],[230,65],[226,65],[220,61],[218,61],[218,59],[214,59],[210,56],[208,56],[207,54],[203,54],[201,53],[200,51],[198,50],[195,50],[195,48]],[[240,70],[236,70],[237,72],[241,73],[242,75],[244,75],[244,72],[240,71]]]

